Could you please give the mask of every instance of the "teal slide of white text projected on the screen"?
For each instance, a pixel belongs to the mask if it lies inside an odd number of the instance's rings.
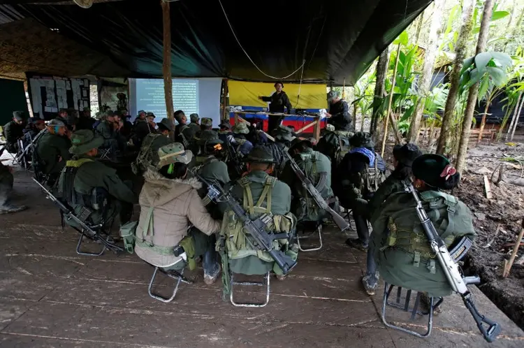
[[[198,84],[196,79],[173,79],[173,106],[175,111],[184,110],[187,118],[198,113]],[[136,79],[136,108],[154,113],[157,119],[167,117],[163,80]]]

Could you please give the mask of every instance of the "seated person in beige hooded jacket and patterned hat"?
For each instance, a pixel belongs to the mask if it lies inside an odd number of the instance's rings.
[[[181,143],[172,143],[161,147],[158,155],[159,169],[150,168],[144,175],[135,252],[140,259],[163,270],[180,271],[186,264],[193,270],[196,257],[214,253],[209,235],[220,230],[220,222],[212,219],[198,196],[201,182],[187,175],[191,151],[185,151]],[[189,229],[190,224],[196,229]],[[187,261],[175,256],[177,246],[184,249]],[[208,275],[206,283],[211,284],[217,279],[220,266],[216,258],[203,266]]]

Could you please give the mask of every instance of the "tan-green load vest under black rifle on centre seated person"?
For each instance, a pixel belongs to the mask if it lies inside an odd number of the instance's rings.
[[[251,182],[247,177],[242,177],[242,179],[238,180],[238,184],[240,184],[242,189],[244,189],[244,197],[242,199],[243,207],[252,219],[256,219],[263,214],[271,213],[271,190],[272,187],[275,186],[275,182],[275,177],[268,176],[265,179],[264,189],[259,201],[254,204],[250,188]],[[295,227],[296,217],[294,217],[293,214],[287,213],[286,215],[272,215],[272,231],[274,233],[291,234],[294,232]],[[247,256],[256,256],[265,262],[275,262],[268,252],[264,252],[261,249],[254,247],[253,238],[245,231],[242,222],[235,217],[235,213],[232,210],[228,209],[224,213],[219,235],[221,238],[217,241],[217,251],[219,251],[221,240],[224,240],[226,243],[228,259],[242,259]],[[296,260],[298,253],[291,250],[289,239],[274,240],[273,246],[275,249],[284,251],[291,256],[291,258]],[[277,274],[282,274],[282,270],[280,270],[276,263],[273,266],[273,271]]]

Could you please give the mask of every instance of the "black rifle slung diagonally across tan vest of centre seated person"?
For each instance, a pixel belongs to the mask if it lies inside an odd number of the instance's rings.
[[[263,214],[256,219],[252,219],[230,192],[224,191],[224,189],[217,184],[208,182],[208,180],[205,180],[196,172],[194,172],[194,175],[196,175],[198,180],[208,187],[208,197],[210,200],[217,203],[227,203],[229,208],[233,210],[236,217],[244,225],[244,229],[254,239],[254,246],[268,252],[272,259],[275,260],[277,265],[282,269],[284,275],[289,273],[289,271],[296,266],[297,262],[295,260],[291,259],[291,257],[284,254],[281,250],[277,250],[273,247],[273,240],[289,238],[289,235],[287,233],[270,232],[270,226],[273,223],[271,215]]]

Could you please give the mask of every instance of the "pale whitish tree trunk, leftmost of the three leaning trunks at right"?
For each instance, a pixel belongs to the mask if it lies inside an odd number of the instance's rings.
[[[431,78],[433,76],[433,66],[435,65],[435,58],[437,57],[439,38],[439,29],[442,21],[442,9],[444,8],[445,0],[435,0],[433,13],[431,14],[431,27],[428,36],[428,47],[425,50],[424,66],[422,68],[422,76],[419,85],[419,101],[417,101],[415,113],[409,125],[409,133],[407,134],[407,141],[409,143],[417,143],[419,141],[419,129],[421,127],[421,119],[424,111],[425,99],[430,93]]]

